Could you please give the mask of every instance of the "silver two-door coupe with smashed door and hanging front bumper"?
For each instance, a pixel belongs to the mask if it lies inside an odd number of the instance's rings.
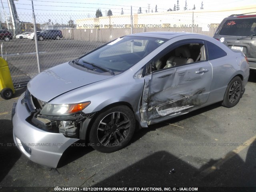
[[[136,126],[216,102],[235,106],[248,77],[244,54],[208,36],[123,36],[30,80],[14,104],[14,142],[30,160],[52,168],[78,140],[114,152]]]

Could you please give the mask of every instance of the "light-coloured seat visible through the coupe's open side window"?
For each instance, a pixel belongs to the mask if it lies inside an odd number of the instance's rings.
[[[164,68],[179,66],[187,63],[192,63],[190,51],[186,46],[180,46],[175,49],[175,56],[170,56],[166,61]]]

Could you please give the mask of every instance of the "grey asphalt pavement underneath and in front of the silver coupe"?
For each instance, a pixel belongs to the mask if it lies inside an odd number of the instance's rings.
[[[250,74],[246,91],[233,108],[216,103],[143,128],[126,148],[110,154],[78,142],[64,152],[58,168],[51,170],[31,162],[14,146],[12,104],[24,90],[16,90],[10,100],[0,98],[2,191],[38,186],[256,186],[255,73]]]

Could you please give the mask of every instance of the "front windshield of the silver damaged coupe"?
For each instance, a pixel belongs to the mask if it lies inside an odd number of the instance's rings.
[[[166,41],[162,38],[124,36],[79,58],[76,62],[82,63],[86,68],[96,67],[102,72],[109,69],[110,74],[119,74],[134,66]]]

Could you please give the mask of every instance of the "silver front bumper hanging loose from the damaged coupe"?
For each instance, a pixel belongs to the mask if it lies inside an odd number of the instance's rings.
[[[14,143],[31,161],[56,168],[63,152],[79,139],[66,138],[61,133],[51,133],[36,128],[26,121],[30,113],[21,104],[22,94],[12,118]]]

